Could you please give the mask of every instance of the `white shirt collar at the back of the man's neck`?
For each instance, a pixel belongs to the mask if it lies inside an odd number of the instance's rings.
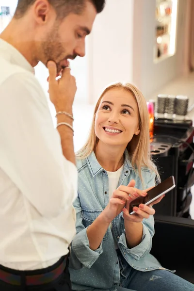
[[[0,39],[0,54],[3,55],[11,64],[19,65],[34,74],[34,68],[26,58],[12,45]]]

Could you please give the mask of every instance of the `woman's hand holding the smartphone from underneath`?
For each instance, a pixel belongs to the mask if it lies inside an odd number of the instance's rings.
[[[135,181],[131,180],[128,187],[131,186],[135,186]],[[144,192],[149,191],[151,188],[146,189]],[[154,204],[159,203],[162,198],[165,195],[162,195],[161,197],[159,197],[158,199],[156,199],[155,201],[153,201],[151,204],[149,205],[145,205],[145,204],[140,204],[139,208],[138,207],[133,207],[133,211],[135,211],[135,214],[130,215],[129,214],[129,206],[130,203],[136,198],[133,195],[130,196],[130,200],[127,201],[125,208],[123,209],[123,217],[125,219],[125,221],[130,221],[130,222],[142,222],[144,218],[149,218],[150,215],[154,215],[155,214],[155,210],[153,208],[151,208],[151,206],[153,206]]]

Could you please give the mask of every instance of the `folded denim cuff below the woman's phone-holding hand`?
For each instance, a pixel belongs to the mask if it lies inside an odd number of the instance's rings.
[[[127,239],[125,230],[123,231],[122,235],[119,238],[119,244],[124,246],[125,250],[125,256],[130,256],[133,259],[139,260],[143,257],[145,257],[151,250],[152,246],[152,238],[149,233],[148,228],[142,223],[143,225],[143,235],[142,235],[142,241],[135,247],[129,249],[127,246]],[[123,248],[122,248],[123,249]]]

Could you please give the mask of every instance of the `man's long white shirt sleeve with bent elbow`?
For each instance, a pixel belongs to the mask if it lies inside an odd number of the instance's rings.
[[[45,217],[77,196],[77,168],[63,156],[46,97],[29,72],[0,85],[0,167]]]

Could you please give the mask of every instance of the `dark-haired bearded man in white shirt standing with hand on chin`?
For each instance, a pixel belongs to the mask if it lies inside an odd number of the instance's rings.
[[[76,82],[67,59],[85,55],[85,37],[104,4],[18,0],[15,16],[0,34],[0,291],[71,288]],[[34,77],[39,61],[49,68],[58,131]]]

